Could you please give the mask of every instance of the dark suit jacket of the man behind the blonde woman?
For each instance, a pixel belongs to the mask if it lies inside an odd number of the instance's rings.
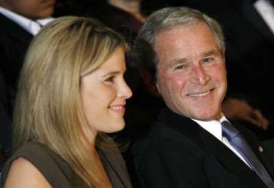
[[[32,34],[0,14],[0,144],[11,146],[11,116],[16,82]]]

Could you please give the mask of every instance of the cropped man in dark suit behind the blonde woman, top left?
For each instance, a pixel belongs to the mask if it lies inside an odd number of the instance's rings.
[[[0,145],[3,149],[11,146],[12,104],[27,47],[41,25],[51,21],[54,3],[54,0],[0,1]]]

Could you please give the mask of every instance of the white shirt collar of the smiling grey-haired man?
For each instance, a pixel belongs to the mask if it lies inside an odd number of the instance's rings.
[[[201,120],[195,120],[195,119],[192,119],[192,120],[197,122],[197,124],[199,124],[199,126],[201,126],[203,129],[205,129],[206,131],[214,135],[214,137],[216,137],[220,141],[222,140],[223,134],[222,134],[221,122],[225,120],[228,121],[227,118],[223,116],[223,114],[220,120],[211,120],[211,121],[201,121]]]

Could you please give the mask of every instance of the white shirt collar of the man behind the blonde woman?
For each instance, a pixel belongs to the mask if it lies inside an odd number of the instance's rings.
[[[53,21],[53,18],[45,18],[45,19],[32,21],[29,18],[25,18],[24,16],[21,16],[20,14],[16,14],[15,12],[12,12],[3,7],[0,7],[0,13],[10,18],[10,20],[20,25],[23,29],[31,33],[33,36],[35,36],[38,33],[38,31],[41,29],[41,25],[44,26],[50,21]]]

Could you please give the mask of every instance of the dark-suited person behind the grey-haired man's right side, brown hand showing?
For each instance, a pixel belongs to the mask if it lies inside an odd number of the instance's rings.
[[[273,137],[274,103],[269,90],[274,50],[273,0],[164,0],[206,12],[224,28],[228,94],[223,113],[248,122],[260,139]],[[240,79],[239,79],[240,78]],[[267,130],[266,130],[267,129]]]

